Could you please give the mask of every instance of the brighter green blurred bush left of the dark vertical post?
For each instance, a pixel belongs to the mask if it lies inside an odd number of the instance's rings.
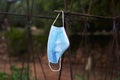
[[[17,53],[25,53],[27,51],[26,45],[26,31],[17,28],[10,28],[6,32],[6,38],[8,43],[9,53],[13,56],[18,55]]]

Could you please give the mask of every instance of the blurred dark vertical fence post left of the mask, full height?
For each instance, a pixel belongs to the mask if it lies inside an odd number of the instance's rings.
[[[32,45],[32,34],[31,34],[31,15],[32,15],[32,9],[30,8],[30,2],[29,0],[26,0],[26,4],[27,4],[27,35],[26,35],[26,39],[28,40],[27,42],[27,48],[28,48],[28,53],[27,53],[27,80],[30,80],[30,74],[29,74],[29,70],[30,70],[30,56],[33,53],[33,45]],[[32,4],[33,5],[33,4]],[[31,45],[30,45],[31,44]],[[21,80],[23,79],[23,71],[24,71],[24,64],[25,60],[22,61],[22,71],[21,71]],[[34,61],[33,61],[34,62]],[[35,65],[34,65],[35,67]],[[36,75],[36,71],[34,72]],[[36,80],[36,76],[35,76],[35,80]]]

